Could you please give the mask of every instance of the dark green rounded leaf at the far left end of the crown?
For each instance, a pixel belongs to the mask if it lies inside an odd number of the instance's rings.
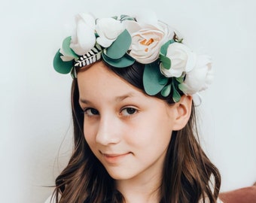
[[[58,50],[53,59],[53,68],[61,74],[68,74],[73,67],[73,61],[63,62],[60,56],[62,54]]]

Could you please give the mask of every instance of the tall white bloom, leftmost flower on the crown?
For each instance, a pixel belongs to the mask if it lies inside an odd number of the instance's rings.
[[[70,47],[80,56],[90,51],[95,43],[95,19],[90,14],[79,14],[76,17],[77,28],[72,35]]]

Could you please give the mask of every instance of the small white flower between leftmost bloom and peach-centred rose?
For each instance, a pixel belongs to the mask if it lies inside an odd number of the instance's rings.
[[[99,19],[96,23],[96,32],[99,35],[96,41],[102,47],[110,47],[123,30],[124,26],[120,20],[111,17]]]

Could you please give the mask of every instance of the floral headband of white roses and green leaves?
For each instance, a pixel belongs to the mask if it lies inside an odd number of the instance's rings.
[[[143,85],[148,95],[160,93],[181,98],[179,92],[194,95],[212,83],[209,56],[197,55],[182,44],[165,23],[150,17],[95,19],[90,14],[76,17],[76,30],[62,42],[53,59],[53,67],[62,74],[104,60],[116,68],[139,62],[145,65]]]

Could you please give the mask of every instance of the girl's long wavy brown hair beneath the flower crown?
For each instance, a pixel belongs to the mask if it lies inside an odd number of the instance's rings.
[[[119,77],[139,89],[143,88],[144,65],[135,63],[127,68],[113,68],[106,65]],[[172,98],[157,98],[172,104]],[[93,155],[84,139],[84,115],[78,103],[78,81],[72,82],[72,117],[74,124],[74,150],[68,165],[56,178],[56,202],[59,203],[117,203],[123,195],[117,191],[114,180],[101,162]],[[217,201],[221,186],[218,169],[210,162],[200,147],[197,135],[194,105],[190,120],[184,129],[172,132],[169,148],[163,166],[160,185],[160,203],[193,203],[200,198]]]

